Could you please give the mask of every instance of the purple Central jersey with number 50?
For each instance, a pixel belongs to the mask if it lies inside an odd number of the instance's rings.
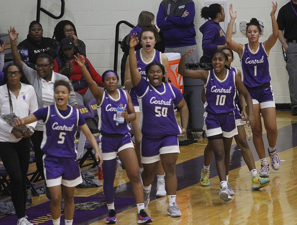
[[[159,92],[149,84],[148,81],[142,82],[141,88],[146,88],[142,96],[138,96],[140,107],[140,126],[141,132],[147,137],[162,138],[167,135],[180,135],[181,129],[174,115],[173,103],[176,102],[174,86],[162,83]]]

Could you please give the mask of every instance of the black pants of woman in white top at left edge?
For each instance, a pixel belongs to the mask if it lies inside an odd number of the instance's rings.
[[[30,161],[30,139],[19,142],[0,142],[0,157],[10,178],[11,200],[18,218],[25,216],[26,176]]]

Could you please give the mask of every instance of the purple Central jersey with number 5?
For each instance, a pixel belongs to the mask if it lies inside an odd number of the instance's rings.
[[[74,141],[78,121],[78,109],[71,107],[70,113],[62,116],[56,104],[48,106],[41,143],[41,149],[45,155],[77,158]]]

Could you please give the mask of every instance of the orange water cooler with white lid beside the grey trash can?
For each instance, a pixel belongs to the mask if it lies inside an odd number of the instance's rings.
[[[181,76],[177,69],[179,68],[180,54],[177,52],[164,53],[168,57],[168,76],[171,84],[180,90],[183,94],[183,76]]]

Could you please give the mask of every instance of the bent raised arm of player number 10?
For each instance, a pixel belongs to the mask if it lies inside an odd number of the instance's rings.
[[[185,54],[182,55],[180,62],[179,62],[179,69],[178,73],[182,75],[183,77],[189,77],[189,78],[194,78],[194,79],[201,79],[206,83],[207,77],[208,77],[208,71],[204,69],[197,69],[197,70],[189,70],[185,68],[185,60],[186,57],[191,55],[192,52],[194,51],[193,49],[189,49],[185,52]]]

